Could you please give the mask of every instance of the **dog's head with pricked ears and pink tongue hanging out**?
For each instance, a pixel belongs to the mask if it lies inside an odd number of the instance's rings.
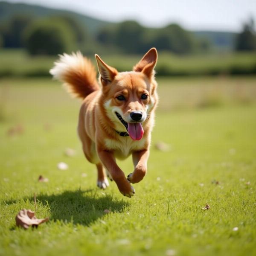
[[[116,131],[127,130],[132,140],[140,140],[144,133],[143,126],[157,104],[157,83],[154,79],[157,50],[150,49],[130,72],[118,73],[98,55],[95,57],[108,117]]]

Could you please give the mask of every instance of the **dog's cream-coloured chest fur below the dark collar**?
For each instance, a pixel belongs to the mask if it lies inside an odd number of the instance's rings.
[[[125,159],[132,151],[142,150],[145,146],[145,139],[131,140],[130,137],[122,137],[122,140],[105,139],[105,146],[114,151],[116,158]]]

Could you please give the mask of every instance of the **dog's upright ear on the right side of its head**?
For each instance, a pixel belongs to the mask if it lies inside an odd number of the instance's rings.
[[[151,48],[143,58],[133,67],[136,72],[143,72],[148,78],[154,75],[154,67],[157,64],[157,49]]]

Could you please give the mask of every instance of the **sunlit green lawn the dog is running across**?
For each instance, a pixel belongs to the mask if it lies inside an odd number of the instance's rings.
[[[0,81],[0,255],[256,255],[255,79],[159,84],[148,174],[130,199],[114,183],[96,188],[76,135],[79,102],[49,79]],[[215,96],[222,104],[202,107],[215,84],[223,84]],[[8,136],[17,125],[23,133]],[[158,141],[170,150],[158,151]],[[65,156],[67,147],[76,156]],[[68,170],[57,169],[61,161]],[[131,172],[131,159],[119,164]],[[50,221],[15,227],[20,209],[35,210],[34,192],[36,216]]]

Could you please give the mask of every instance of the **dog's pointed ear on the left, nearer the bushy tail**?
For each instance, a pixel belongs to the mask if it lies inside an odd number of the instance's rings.
[[[95,54],[95,58],[97,61],[100,81],[102,82],[102,85],[110,84],[117,75],[117,70],[108,66],[104,61],[102,61],[101,58],[99,58],[99,55]]]

